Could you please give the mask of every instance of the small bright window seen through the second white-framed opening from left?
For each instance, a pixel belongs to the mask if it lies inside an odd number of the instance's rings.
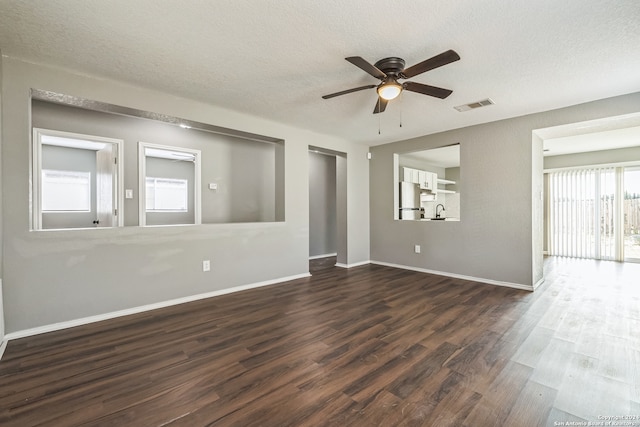
[[[186,179],[147,177],[145,182],[147,211],[187,211],[189,191]]]

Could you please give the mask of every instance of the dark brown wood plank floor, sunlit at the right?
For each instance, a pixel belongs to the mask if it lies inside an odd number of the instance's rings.
[[[640,416],[640,265],[548,259],[529,293],[334,262],[315,262],[307,279],[10,341],[0,425]]]

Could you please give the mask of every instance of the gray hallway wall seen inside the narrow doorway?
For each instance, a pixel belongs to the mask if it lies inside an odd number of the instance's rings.
[[[309,152],[309,256],[337,253],[336,156]]]

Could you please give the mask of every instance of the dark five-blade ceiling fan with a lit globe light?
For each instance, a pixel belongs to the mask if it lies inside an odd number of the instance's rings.
[[[403,90],[410,92],[417,92],[423,95],[434,96],[436,98],[445,99],[447,96],[453,93],[452,90],[443,89],[441,87],[429,86],[416,82],[403,82],[400,83],[400,79],[410,79],[418,74],[422,74],[426,71],[433,70],[434,68],[442,67],[443,65],[450,64],[460,59],[453,50],[447,50],[440,55],[436,55],[433,58],[426,59],[416,65],[409,68],[404,68],[405,62],[402,58],[384,58],[375,64],[371,65],[365,59],[359,56],[350,56],[345,58],[356,67],[366,71],[373,77],[380,79],[382,83],[379,85],[366,85],[353,89],[347,89],[329,95],[324,95],[323,99],[333,98],[335,96],[346,95],[348,93],[357,92],[359,90],[377,88],[378,100],[376,106],[373,109],[373,114],[382,113],[387,108],[387,103],[400,95]]]

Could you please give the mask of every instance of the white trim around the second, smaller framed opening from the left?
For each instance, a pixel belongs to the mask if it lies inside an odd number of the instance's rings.
[[[146,197],[146,185],[145,178],[147,176],[147,162],[146,149],[158,149],[177,151],[182,153],[193,154],[195,160],[193,162],[193,210],[194,210],[194,225],[200,225],[202,223],[202,189],[201,189],[201,162],[202,152],[200,150],[194,150],[192,148],[173,147],[170,145],[152,144],[150,142],[138,141],[138,225],[145,227],[147,225],[147,197]],[[174,225],[174,224],[171,224]],[[182,224],[175,224],[182,225]],[[191,224],[188,224],[191,225]]]

